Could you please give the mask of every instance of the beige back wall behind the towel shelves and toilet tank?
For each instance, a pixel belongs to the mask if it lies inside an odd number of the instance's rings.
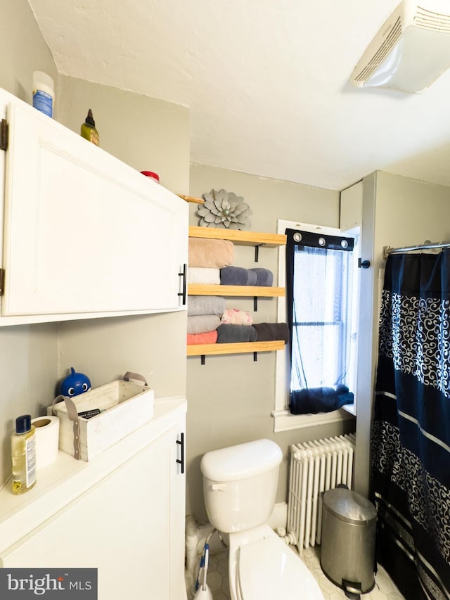
[[[191,165],[191,196],[201,198],[211,189],[224,188],[243,196],[250,205],[252,231],[276,233],[278,219],[339,226],[339,193],[288,181],[278,181],[224,169]],[[198,225],[197,205],[191,205],[191,225]],[[235,264],[255,267],[254,250],[235,247]],[[278,251],[261,248],[257,266],[277,273]],[[228,307],[249,310],[255,322],[276,321],[276,299],[226,299]],[[258,438],[280,445],[284,460],[277,502],[285,502],[288,486],[289,446],[295,442],[339,435],[354,429],[354,421],[330,426],[273,433],[275,352],[188,358],[188,478],[187,511],[206,521],[200,459],[209,450]]]

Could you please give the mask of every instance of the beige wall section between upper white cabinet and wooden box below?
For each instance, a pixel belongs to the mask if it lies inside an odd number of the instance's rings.
[[[143,375],[155,397],[186,393],[186,312],[60,324],[58,376],[70,366],[94,387],[126,371]]]

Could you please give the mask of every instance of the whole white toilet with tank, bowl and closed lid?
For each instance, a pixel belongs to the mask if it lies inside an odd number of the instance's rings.
[[[231,600],[323,600],[314,576],[267,524],[283,454],[255,440],[204,454],[203,496],[210,523],[229,545]]]

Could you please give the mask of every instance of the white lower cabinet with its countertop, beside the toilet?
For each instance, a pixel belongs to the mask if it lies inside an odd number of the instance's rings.
[[[0,566],[98,568],[98,600],[183,600],[186,400],[93,461],[60,452],[23,497],[0,493]]]

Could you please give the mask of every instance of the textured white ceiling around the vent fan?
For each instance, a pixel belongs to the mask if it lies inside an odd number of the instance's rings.
[[[450,70],[349,83],[399,0],[28,0],[60,72],[191,108],[191,161],[341,190],[450,186]]]

